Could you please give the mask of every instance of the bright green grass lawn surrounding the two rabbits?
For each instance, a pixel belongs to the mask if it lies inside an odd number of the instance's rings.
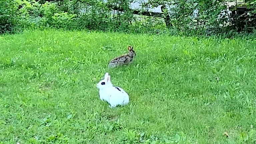
[[[109,69],[128,45],[134,62]],[[255,46],[85,31],[2,35],[0,144],[254,144]],[[105,72],[128,105],[99,99]]]

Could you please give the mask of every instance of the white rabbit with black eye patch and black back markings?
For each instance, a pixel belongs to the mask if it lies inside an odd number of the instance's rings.
[[[99,89],[100,99],[107,101],[110,106],[126,105],[129,103],[129,95],[120,87],[115,87],[110,82],[110,75],[105,73],[104,79],[97,84]]]

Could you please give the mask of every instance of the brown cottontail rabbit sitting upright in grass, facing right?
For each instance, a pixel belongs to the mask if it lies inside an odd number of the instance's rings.
[[[114,59],[112,59],[108,66],[110,68],[116,67],[116,66],[120,66],[120,65],[126,65],[129,64],[133,61],[133,57],[136,55],[135,51],[133,50],[133,47],[128,46],[128,50],[129,53],[125,54],[125,55],[121,55],[119,57],[116,57]]]

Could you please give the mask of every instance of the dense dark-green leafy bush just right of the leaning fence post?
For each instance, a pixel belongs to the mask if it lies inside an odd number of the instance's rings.
[[[227,12],[225,0],[166,0],[149,1],[152,5],[173,5],[170,12],[171,24],[176,34],[208,35],[222,32],[220,25],[229,21],[229,15],[219,18],[221,11]],[[193,13],[197,11],[197,13]]]

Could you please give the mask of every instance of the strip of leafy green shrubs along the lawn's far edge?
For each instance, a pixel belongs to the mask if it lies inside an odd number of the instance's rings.
[[[131,13],[135,0],[0,0],[0,33],[19,32],[31,28],[88,29],[133,33],[168,33],[181,35],[234,35],[226,0],[149,0],[137,1],[141,10],[162,4],[173,5],[168,14],[171,27],[161,18]],[[247,2],[247,21],[253,21],[255,2]],[[124,12],[113,11],[118,6]],[[197,14],[193,13],[198,11]],[[165,12],[166,14],[167,12]],[[246,23],[242,31],[253,32],[254,23]]]

